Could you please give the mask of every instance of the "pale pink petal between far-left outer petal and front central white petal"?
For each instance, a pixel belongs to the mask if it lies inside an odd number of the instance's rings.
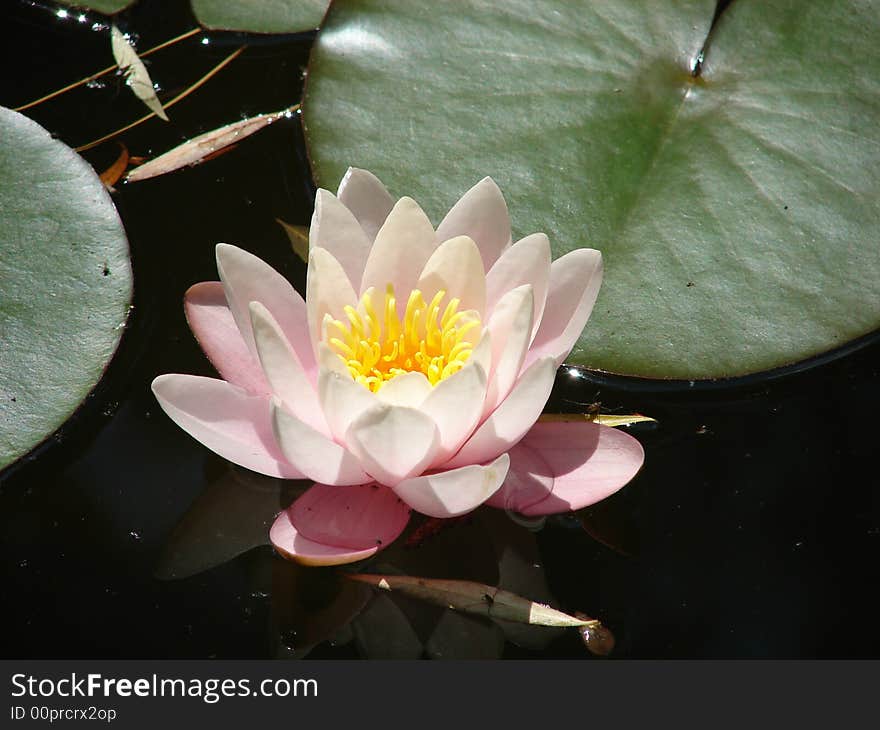
[[[334,486],[372,481],[348,450],[289,413],[277,398],[271,406],[273,432],[282,453],[309,479]]]

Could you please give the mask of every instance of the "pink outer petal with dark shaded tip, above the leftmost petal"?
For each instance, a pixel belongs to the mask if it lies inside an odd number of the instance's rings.
[[[269,383],[238,331],[223,284],[193,284],[183,297],[183,308],[189,328],[221,377],[251,395],[268,395]]]

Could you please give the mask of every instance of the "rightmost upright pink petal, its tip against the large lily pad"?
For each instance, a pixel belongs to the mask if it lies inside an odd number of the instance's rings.
[[[594,249],[579,248],[553,262],[544,317],[526,366],[547,355],[562,364],[590,318],[601,284],[602,254]]]

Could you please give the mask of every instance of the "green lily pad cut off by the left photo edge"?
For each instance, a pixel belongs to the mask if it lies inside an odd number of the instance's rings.
[[[92,168],[0,108],[0,469],[97,384],[132,296],[128,242]]]

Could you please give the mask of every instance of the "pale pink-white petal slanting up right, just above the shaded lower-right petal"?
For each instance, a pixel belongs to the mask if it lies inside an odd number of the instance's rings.
[[[532,427],[553,389],[556,363],[545,357],[521,376],[510,395],[474,432],[445,467],[482,464],[508,451]]]

